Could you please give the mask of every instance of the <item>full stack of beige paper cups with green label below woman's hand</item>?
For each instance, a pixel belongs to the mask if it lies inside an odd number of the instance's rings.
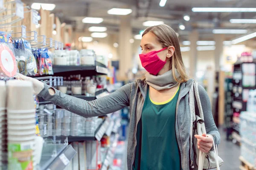
[[[35,106],[32,83],[7,82],[8,168],[33,169],[35,149]]]

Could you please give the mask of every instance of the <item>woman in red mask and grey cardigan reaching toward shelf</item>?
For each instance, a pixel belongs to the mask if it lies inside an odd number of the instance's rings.
[[[140,59],[148,71],[145,77],[94,101],[68,96],[30,77],[20,79],[32,81],[38,96],[83,117],[102,116],[130,106],[128,170],[190,170],[195,162],[189,159],[189,89],[193,79],[186,74],[177,35],[169,26],[152,26],[143,33],[140,46]],[[213,138],[206,134],[195,137],[198,149],[207,153],[213,140],[219,144],[220,135],[202,86],[199,94],[206,130]]]

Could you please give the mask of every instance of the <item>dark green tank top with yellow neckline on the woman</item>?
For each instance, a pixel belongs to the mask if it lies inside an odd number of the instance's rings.
[[[168,101],[157,103],[150,99],[148,90],[137,126],[133,170],[181,170],[175,133],[179,91]]]

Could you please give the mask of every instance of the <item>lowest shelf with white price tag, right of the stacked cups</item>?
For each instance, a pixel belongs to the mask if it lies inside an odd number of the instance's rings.
[[[44,144],[40,164],[36,170],[63,170],[76,151],[67,144]]]

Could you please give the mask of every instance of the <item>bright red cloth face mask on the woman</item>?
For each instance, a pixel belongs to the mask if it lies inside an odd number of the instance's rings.
[[[147,54],[140,54],[141,64],[142,64],[143,68],[145,68],[146,71],[148,71],[148,73],[157,75],[157,73],[166,64],[166,61],[163,61],[157,55],[157,53],[165,50],[166,48],[163,48],[159,51],[150,51]]]

